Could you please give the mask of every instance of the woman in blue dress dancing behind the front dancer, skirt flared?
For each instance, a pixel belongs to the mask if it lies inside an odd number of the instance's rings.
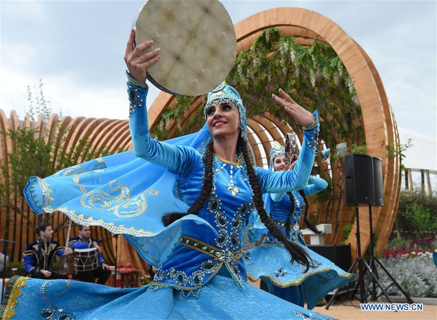
[[[270,150],[270,170],[284,172],[287,169],[284,159],[285,148],[275,141]],[[297,170],[295,163],[290,166],[292,171]],[[288,239],[304,247],[306,244],[299,226],[302,212],[305,212],[305,224],[313,232],[320,233],[308,221],[306,197],[328,186],[325,180],[314,176],[310,176],[308,182],[311,185],[300,190],[264,195],[265,208],[270,212],[273,223],[287,235]],[[353,274],[343,271],[308,248],[307,251],[312,260],[317,263],[317,267],[305,273],[300,265],[290,264],[289,255],[282,242],[277,240],[260,221],[250,226],[249,236],[252,240],[260,241],[260,235],[263,233],[265,236],[262,245],[244,253],[246,271],[252,281],[261,278],[267,284],[269,292],[275,296],[300,306],[303,306],[306,300],[308,309],[313,309],[317,302],[324,302],[328,292],[341,288],[354,279]]]

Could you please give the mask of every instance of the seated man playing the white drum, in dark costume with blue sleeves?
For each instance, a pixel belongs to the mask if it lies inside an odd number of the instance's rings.
[[[95,282],[95,279],[99,280],[97,283],[105,284],[111,275],[110,267],[105,263],[103,258],[102,248],[99,246],[99,242],[91,238],[91,228],[89,226],[79,226],[79,236],[74,237],[70,240],[70,248],[74,249],[85,249],[85,248],[97,248],[98,251],[98,263],[97,269],[90,271],[79,271],[76,273],[75,278],[80,279],[85,282]]]

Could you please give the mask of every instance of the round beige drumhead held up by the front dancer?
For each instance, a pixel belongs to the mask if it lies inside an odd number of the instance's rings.
[[[218,0],[148,0],[136,19],[136,44],[153,40],[160,60],[147,78],[160,90],[200,95],[229,74],[237,55],[234,26]]]

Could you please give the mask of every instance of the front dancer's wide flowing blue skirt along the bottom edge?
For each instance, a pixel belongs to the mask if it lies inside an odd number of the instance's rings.
[[[14,316],[15,315],[15,316]],[[231,278],[216,275],[186,298],[164,287],[116,289],[70,280],[14,277],[1,305],[1,319],[143,320],[143,319],[309,319],[329,320],[283,301],[250,284],[239,290]]]

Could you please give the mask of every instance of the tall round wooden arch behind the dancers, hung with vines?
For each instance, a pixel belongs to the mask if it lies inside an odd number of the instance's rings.
[[[399,135],[396,121],[391,107],[388,104],[381,78],[366,52],[350,38],[332,20],[314,11],[301,8],[275,8],[262,11],[250,16],[235,25],[237,36],[237,53],[250,47],[253,41],[264,29],[276,27],[287,36],[295,36],[297,43],[310,44],[312,38],[319,38],[328,43],[335,50],[346,67],[355,87],[362,110],[362,126],[366,136],[367,153],[382,159],[385,207],[374,208],[372,217],[374,232],[378,238],[377,250],[382,250],[390,235],[393,226],[400,196],[400,160],[398,157],[388,158],[387,147],[399,144]],[[157,125],[161,114],[175,105],[175,96],[160,93],[149,110],[149,123],[151,127]],[[186,113],[182,126],[186,126],[190,116],[201,107],[200,98],[197,98]],[[248,119],[249,142],[253,147],[257,165],[266,163],[263,154],[268,154],[271,148],[271,138],[281,140],[283,134],[290,132],[289,126],[273,118],[268,113],[263,117]],[[178,128],[175,121],[170,121],[167,129],[173,137]],[[254,137],[257,136],[257,138]],[[260,142],[257,142],[260,141]],[[263,159],[264,158],[264,159]],[[319,164],[323,166],[322,164]],[[342,179],[338,168],[332,166],[333,180]],[[338,192],[338,191],[337,191]],[[327,243],[338,243],[341,240],[342,227],[352,220],[353,212],[344,203],[337,200],[338,193],[334,190],[333,201],[329,208],[326,204],[322,209],[331,211],[328,222],[334,224],[336,219],[338,232],[327,235]],[[340,207],[338,217],[334,214],[336,207]],[[366,249],[369,244],[369,219],[367,208],[360,209],[361,217],[361,247]],[[352,257],[356,252],[355,240],[356,223],[352,227],[347,243],[351,244]]]

